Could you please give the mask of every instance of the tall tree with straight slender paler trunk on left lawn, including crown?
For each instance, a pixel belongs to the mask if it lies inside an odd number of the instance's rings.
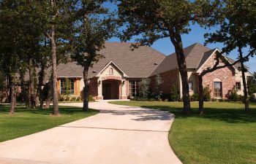
[[[52,66],[53,114],[59,115],[57,93],[57,48],[67,44],[72,31],[73,9],[76,1],[30,1],[31,17],[42,34],[50,41]],[[64,55],[64,54],[62,54]]]

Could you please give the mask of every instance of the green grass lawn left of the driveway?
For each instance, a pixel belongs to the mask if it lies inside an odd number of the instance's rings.
[[[26,109],[24,106],[17,106],[15,114],[10,115],[8,114],[9,106],[0,106],[0,142],[54,128],[98,113],[93,109],[82,112],[82,109],[71,106],[59,106],[59,111],[61,115],[55,117],[51,115],[52,109]]]

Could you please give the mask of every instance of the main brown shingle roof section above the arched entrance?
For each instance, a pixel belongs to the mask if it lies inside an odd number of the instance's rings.
[[[132,50],[130,46],[131,43],[106,42],[105,48],[100,51],[105,58],[89,69],[89,77],[96,76],[111,60],[128,77],[148,77],[157,68],[154,63],[159,64],[165,58],[165,55],[151,47],[143,46]],[[83,67],[75,62],[60,64],[57,71],[58,77],[83,77]]]

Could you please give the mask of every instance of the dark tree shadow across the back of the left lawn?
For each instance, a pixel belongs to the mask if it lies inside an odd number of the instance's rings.
[[[8,113],[10,111],[10,106],[1,105],[0,106],[0,114]],[[94,112],[95,110],[89,109],[89,112]],[[45,114],[49,115],[53,112],[53,108],[50,109],[40,109],[37,107],[36,109],[26,108],[26,106],[18,105],[15,107],[15,113],[31,113],[31,114]],[[82,108],[74,107],[74,106],[59,106],[60,114],[75,114],[79,112],[83,112]]]

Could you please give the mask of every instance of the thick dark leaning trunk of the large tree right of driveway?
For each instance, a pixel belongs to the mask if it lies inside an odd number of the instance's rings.
[[[183,111],[184,114],[191,113],[190,101],[189,101],[189,84],[187,77],[187,64],[185,60],[183,45],[180,34],[174,34],[170,31],[170,40],[173,43],[176,51],[176,57],[178,61],[178,70],[181,74],[182,82],[182,99],[183,99]]]

